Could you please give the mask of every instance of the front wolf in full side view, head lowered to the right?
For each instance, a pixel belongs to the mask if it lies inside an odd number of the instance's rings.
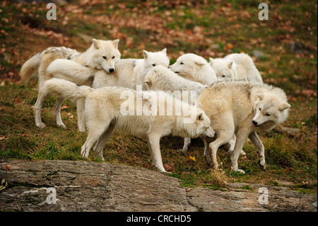
[[[121,87],[103,87],[93,89],[89,86],[78,86],[71,81],[64,79],[50,79],[45,81],[45,84],[40,87],[45,94],[57,94],[77,100],[78,98],[86,98],[85,100],[85,120],[88,129],[88,137],[83,147],[81,154],[88,157],[90,148],[94,147],[94,152],[98,157],[102,158],[102,149],[105,142],[109,139],[112,130],[115,126],[129,132],[131,135],[147,137],[151,158],[153,164],[160,171],[164,171],[163,161],[160,154],[160,137],[165,135],[175,135],[181,137],[198,137],[199,135],[207,135],[213,137],[215,132],[210,126],[210,120],[201,110],[201,108],[191,108],[190,111],[195,115],[194,123],[184,123],[188,116],[184,115],[153,115],[146,114],[142,111],[138,114],[134,106],[138,106],[138,96],[143,96],[142,106],[151,106],[151,111],[158,112],[160,106],[166,108],[171,106],[175,110],[177,106],[188,108],[188,103],[172,101],[170,95],[159,95],[158,92],[149,91],[134,91]],[[124,95],[123,95],[124,94]],[[126,95],[129,98],[126,100]],[[131,98],[131,96],[132,98]],[[148,96],[145,98],[144,96]],[[149,96],[151,98],[149,98]],[[156,98],[154,98],[156,97]],[[128,103],[126,103],[128,101]],[[132,106],[132,115],[123,114],[126,111],[126,106]]]

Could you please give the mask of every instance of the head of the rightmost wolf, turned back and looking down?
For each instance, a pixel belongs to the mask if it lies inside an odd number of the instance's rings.
[[[270,91],[261,91],[256,96],[255,116],[252,120],[255,127],[264,125],[266,130],[271,130],[287,119],[290,104],[287,103],[287,97],[282,89],[273,88]]]

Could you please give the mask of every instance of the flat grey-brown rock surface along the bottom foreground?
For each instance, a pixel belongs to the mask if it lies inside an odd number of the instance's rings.
[[[317,211],[317,196],[287,187],[185,188],[157,171],[117,164],[1,162],[2,179],[0,211]]]

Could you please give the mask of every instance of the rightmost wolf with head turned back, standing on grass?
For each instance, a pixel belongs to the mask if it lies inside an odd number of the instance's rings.
[[[237,159],[247,137],[257,147],[259,166],[265,169],[264,145],[256,132],[271,130],[288,118],[290,104],[285,92],[252,81],[220,81],[204,89],[198,101],[216,131],[216,140],[209,144],[204,139],[206,162],[217,169],[218,147],[236,135],[235,148],[230,157],[233,170],[244,173],[238,169]]]

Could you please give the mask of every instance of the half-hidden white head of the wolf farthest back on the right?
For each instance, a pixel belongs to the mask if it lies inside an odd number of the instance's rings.
[[[222,58],[213,59],[210,57],[210,66],[216,72],[218,80],[235,79],[235,62]]]

